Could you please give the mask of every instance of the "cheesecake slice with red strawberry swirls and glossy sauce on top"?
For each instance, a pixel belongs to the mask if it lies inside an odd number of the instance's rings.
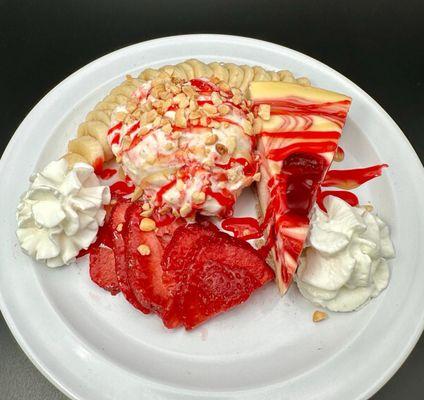
[[[262,120],[258,134],[258,197],[277,285],[293,280],[309,216],[342,133],[351,99],[283,82],[252,82],[250,99]]]

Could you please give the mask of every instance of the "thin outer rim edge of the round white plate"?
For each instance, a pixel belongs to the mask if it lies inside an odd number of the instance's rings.
[[[246,43],[256,44],[256,45],[266,45],[266,46],[274,46],[276,49],[284,49],[284,51],[291,53],[293,55],[301,56],[303,59],[306,59],[310,62],[313,62],[317,65],[319,65],[321,68],[326,69],[328,72],[331,72],[332,74],[336,75],[339,79],[347,82],[349,85],[352,85],[356,90],[358,90],[362,96],[371,104],[376,107],[379,111],[379,113],[383,114],[386,119],[390,121],[390,123],[393,125],[394,128],[396,128],[399,139],[401,139],[404,144],[406,144],[409,147],[409,155],[412,156],[410,162],[415,162],[416,166],[418,168],[421,167],[421,179],[424,179],[424,170],[423,170],[423,164],[421,160],[419,159],[417,153],[415,152],[413,146],[405,136],[405,134],[402,132],[400,127],[396,124],[396,122],[391,118],[391,116],[364,90],[362,90],[359,86],[357,86],[355,83],[353,83],[350,79],[342,75],[341,73],[337,72],[333,68],[329,67],[328,65],[320,62],[319,60],[316,60],[313,57],[310,57],[302,52],[290,49],[286,46],[282,46],[276,43],[272,43],[269,41],[259,40],[255,38],[249,38],[249,37],[243,37],[243,36],[236,36],[236,35],[222,35],[222,34],[188,34],[188,35],[174,35],[174,36],[166,36],[156,39],[151,39],[148,41],[143,41],[139,43],[132,44],[130,46],[126,46],[123,48],[120,48],[118,50],[112,51],[110,53],[107,53],[90,63],[82,66],[75,72],[73,72],[71,75],[67,76],[64,80],[59,82],[56,86],[54,86],[43,98],[37,102],[37,104],[31,109],[31,111],[27,114],[27,116],[24,118],[24,120],[19,124],[18,128],[15,130],[14,134],[12,135],[9,143],[7,144],[1,160],[0,160],[0,177],[4,173],[5,166],[7,165],[6,161],[9,159],[12,153],[12,149],[14,146],[16,146],[16,141],[18,134],[23,129],[23,126],[27,120],[30,119],[31,115],[38,110],[38,108],[48,99],[53,92],[61,88],[62,86],[66,85],[67,82],[72,80],[76,75],[80,74],[81,72],[88,72],[90,68],[93,68],[97,64],[102,63],[104,60],[108,58],[112,58],[114,56],[119,55],[120,53],[126,53],[131,51],[132,48],[137,48],[142,45],[154,45],[155,43],[163,43],[166,41],[172,42],[175,39],[210,39],[210,40],[217,40],[220,39],[222,41],[225,40],[237,40],[237,41],[245,41]],[[64,385],[58,377],[55,375],[53,371],[50,371],[46,365],[44,365],[43,361],[36,357],[32,350],[31,346],[28,341],[26,341],[23,336],[21,335],[19,329],[15,325],[12,313],[10,312],[10,309],[8,305],[5,302],[5,299],[3,298],[2,292],[0,291],[0,309],[2,311],[3,317],[6,321],[6,324],[10,331],[12,332],[15,340],[18,342],[21,349],[24,351],[26,356],[30,359],[30,361],[36,366],[36,368],[49,380],[50,383],[52,383],[56,388],[58,388],[61,392],[63,392],[66,396],[70,397],[71,399],[80,400],[81,397],[78,397],[76,394],[73,393],[72,390],[70,390],[66,385]],[[373,394],[375,394],[382,386],[384,386],[385,383],[396,373],[396,371],[401,367],[401,365],[404,363],[406,358],[409,356],[413,348],[415,347],[416,343],[418,342],[422,332],[424,330],[424,313],[421,315],[421,318],[417,320],[417,323],[415,325],[415,331],[411,333],[409,340],[406,342],[406,345],[402,347],[402,352],[399,353],[397,358],[394,359],[392,365],[389,366],[389,368],[386,368],[386,372],[381,375],[380,379],[377,380],[374,385],[365,392],[363,392],[363,398],[369,398]],[[361,397],[362,398],[362,397]]]

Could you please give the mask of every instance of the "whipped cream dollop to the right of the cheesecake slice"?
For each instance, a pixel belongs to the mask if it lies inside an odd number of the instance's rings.
[[[331,311],[353,311],[384,290],[395,256],[387,225],[338,197],[315,206],[296,282],[302,295]]]

